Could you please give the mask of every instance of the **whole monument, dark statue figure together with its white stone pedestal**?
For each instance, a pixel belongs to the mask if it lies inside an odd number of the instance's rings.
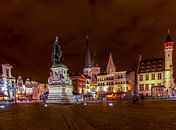
[[[73,86],[63,63],[63,55],[59,38],[56,37],[52,52],[52,67],[48,78],[49,94],[46,103],[75,103]]]

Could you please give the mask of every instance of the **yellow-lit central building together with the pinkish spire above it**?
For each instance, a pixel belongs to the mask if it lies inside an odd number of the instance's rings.
[[[135,81],[134,71],[116,72],[112,54],[110,53],[109,61],[105,74],[97,76],[97,93],[111,96],[114,93],[118,95],[131,94]]]

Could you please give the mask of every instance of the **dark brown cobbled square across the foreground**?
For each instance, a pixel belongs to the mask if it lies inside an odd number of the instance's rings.
[[[12,104],[0,108],[0,130],[175,130],[176,101]]]

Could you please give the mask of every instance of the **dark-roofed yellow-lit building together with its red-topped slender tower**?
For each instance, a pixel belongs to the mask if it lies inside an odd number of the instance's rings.
[[[138,93],[144,96],[173,96],[173,51],[170,34],[164,42],[164,58],[141,60],[138,72]]]

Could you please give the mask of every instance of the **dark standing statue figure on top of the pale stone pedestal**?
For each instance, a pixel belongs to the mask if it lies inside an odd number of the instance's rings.
[[[53,65],[57,65],[62,63],[62,60],[63,60],[63,56],[62,56],[60,41],[59,41],[59,37],[56,36],[56,40],[53,45],[52,63]]]

